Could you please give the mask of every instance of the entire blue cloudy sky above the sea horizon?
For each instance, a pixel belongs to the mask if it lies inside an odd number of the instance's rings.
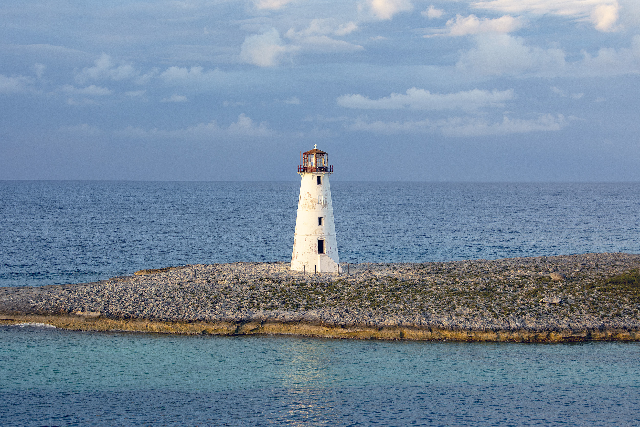
[[[637,0],[6,1],[0,179],[640,181]]]

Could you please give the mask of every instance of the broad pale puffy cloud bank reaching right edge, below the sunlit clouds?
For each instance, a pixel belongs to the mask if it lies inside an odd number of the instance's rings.
[[[601,47],[591,55],[582,51],[582,60],[566,62],[563,49],[542,49],[524,44],[511,35],[481,35],[476,47],[462,51],[456,66],[474,74],[524,76],[616,76],[640,73],[640,35],[630,47]]]

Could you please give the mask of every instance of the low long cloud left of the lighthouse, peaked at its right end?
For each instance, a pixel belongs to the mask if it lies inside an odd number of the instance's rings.
[[[118,137],[127,138],[211,138],[218,136],[236,136],[236,137],[269,137],[276,135],[275,131],[269,128],[267,122],[259,124],[253,122],[250,117],[246,117],[244,113],[238,116],[236,122],[230,124],[227,128],[220,128],[215,120],[209,123],[200,123],[196,126],[188,126],[178,130],[159,130],[144,129],[140,126],[127,126],[124,130],[113,132]]]

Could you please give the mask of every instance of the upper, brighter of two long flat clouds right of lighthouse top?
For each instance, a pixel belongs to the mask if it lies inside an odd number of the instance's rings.
[[[451,94],[432,94],[429,90],[412,87],[406,94],[392,93],[380,99],[369,99],[359,94],[347,94],[337,97],[338,105],[346,108],[401,109],[412,110],[451,110],[463,108],[474,111],[481,107],[504,108],[504,102],[515,99],[513,89],[488,90],[472,89]]]

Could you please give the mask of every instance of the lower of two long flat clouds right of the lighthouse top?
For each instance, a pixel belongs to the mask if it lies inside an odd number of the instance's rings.
[[[445,137],[483,137],[489,135],[509,135],[534,131],[557,131],[567,125],[564,116],[543,114],[538,119],[509,119],[502,122],[489,122],[474,117],[451,117],[444,120],[404,121],[404,122],[367,122],[358,118],[355,123],[346,126],[349,131],[372,131],[390,135],[392,133],[439,133]]]

